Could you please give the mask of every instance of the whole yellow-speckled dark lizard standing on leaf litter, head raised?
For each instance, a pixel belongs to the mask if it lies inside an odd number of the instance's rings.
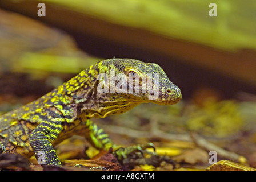
[[[124,73],[127,76],[128,88],[134,88],[134,84],[128,83],[131,80],[129,73],[145,78],[152,74],[153,86],[157,83],[154,74],[158,74],[158,98],[150,100],[149,92],[99,93],[99,83],[105,83],[111,88],[111,81],[98,80],[99,74],[106,73],[110,78],[111,70],[115,71],[115,75]],[[125,113],[143,102],[171,105],[179,100],[181,91],[170,82],[159,65],[134,59],[103,60],[38,100],[1,115],[0,141],[9,139],[9,150],[17,146],[14,151],[28,157],[34,154],[38,159],[44,152],[43,164],[61,166],[53,147],[72,135],[85,136],[99,150],[115,148],[109,136],[91,122],[91,118]]]

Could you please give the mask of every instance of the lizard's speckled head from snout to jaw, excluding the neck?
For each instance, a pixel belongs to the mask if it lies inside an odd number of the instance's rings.
[[[108,59],[100,64],[99,92],[139,103],[171,105],[181,100],[181,90],[158,64],[134,59]]]

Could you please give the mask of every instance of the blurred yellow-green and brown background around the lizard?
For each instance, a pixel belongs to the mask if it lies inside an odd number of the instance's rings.
[[[45,3],[46,16],[38,16],[38,3]],[[149,139],[159,151],[171,148],[170,156],[210,151],[191,137],[197,134],[237,154],[220,159],[245,156],[256,167],[255,10],[253,0],[1,0],[0,111],[41,97],[102,59],[153,62],[179,86],[182,101],[100,119],[113,140]],[[207,166],[201,158],[179,160]]]

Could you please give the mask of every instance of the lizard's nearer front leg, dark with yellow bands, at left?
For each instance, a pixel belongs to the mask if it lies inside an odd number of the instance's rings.
[[[50,121],[42,121],[29,137],[30,146],[33,148],[35,158],[41,165],[61,166],[52,143],[61,133],[62,117],[53,117]]]

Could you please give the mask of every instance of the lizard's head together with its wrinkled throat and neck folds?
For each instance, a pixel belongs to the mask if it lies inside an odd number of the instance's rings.
[[[90,81],[75,97],[82,97],[76,102],[82,101],[79,108],[87,118],[125,113],[143,102],[171,105],[181,100],[181,90],[158,64],[107,59],[92,65],[86,73],[81,72],[79,77],[81,74]]]

